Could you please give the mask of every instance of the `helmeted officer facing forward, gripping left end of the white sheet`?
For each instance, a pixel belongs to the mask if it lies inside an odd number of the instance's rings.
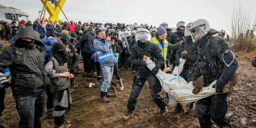
[[[135,66],[138,66],[139,70],[134,76],[132,92],[127,104],[128,112],[122,117],[123,120],[128,120],[130,116],[132,116],[132,113],[136,107],[138,96],[140,95],[140,91],[146,80],[148,80],[151,96],[154,102],[157,104],[158,108],[161,109],[158,116],[164,116],[168,112],[164,98],[160,94],[162,87],[159,80],[155,76],[164,63],[164,58],[162,57],[160,48],[156,44],[150,43],[150,38],[150,32],[145,28],[139,29],[135,34],[135,39],[138,43],[134,44],[134,50],[129,57],[129,61]],[[143,61],[144,55],[150,57],[150,59],[156,63],[156,66],[152,69],[152,71],[147,68],[146,62]]]

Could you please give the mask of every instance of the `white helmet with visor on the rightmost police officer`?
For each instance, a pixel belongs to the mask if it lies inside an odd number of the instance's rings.
[[[205,19],[198,19],[194,21],[194,23],[190,28],[190,33],[191,33],[193,42],[199,40],[200,38],[205,36],[207,33],[216,33],[216,32],[218,31],[210,28],[209,22]]]

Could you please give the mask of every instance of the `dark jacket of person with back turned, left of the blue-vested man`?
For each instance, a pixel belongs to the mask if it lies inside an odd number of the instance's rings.
[[[84,54],[92,54],[92,45],[94,43],[96,34],[94,32],[87,32],[80,39],[80,50]]]

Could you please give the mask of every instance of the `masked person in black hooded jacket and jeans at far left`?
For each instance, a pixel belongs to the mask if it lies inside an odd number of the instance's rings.
[[[0,72],[9,68],[12,74],[11,88],[20,115],[19,127],[38,128],[44,112],[45,87],[49,84],[44,70],[45,46],[32,27],[20,28],[15,40],[14,47],[3,50],[0,55]]]

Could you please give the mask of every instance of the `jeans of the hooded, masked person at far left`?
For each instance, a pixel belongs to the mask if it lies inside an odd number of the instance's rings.
[[[16,109],[20,115],[20,128],[41,128],[44,113],[45,91],[31,96],[15,96]]]

